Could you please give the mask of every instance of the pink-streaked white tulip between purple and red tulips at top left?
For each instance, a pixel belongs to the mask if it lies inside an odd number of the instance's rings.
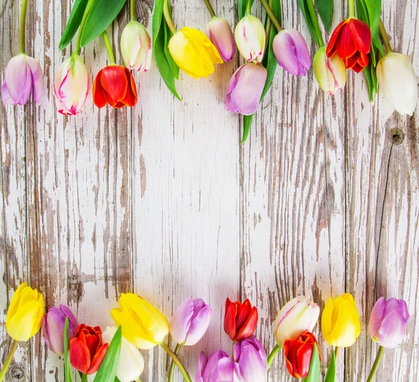
[[[77,53],[61,64],[54,78],[54,93],[58,112],[77,115],[82,110],[90,90],[86,65]]]

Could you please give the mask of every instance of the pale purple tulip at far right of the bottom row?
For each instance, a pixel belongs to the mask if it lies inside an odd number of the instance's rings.
[[[380,297],[369,316],[368,333],[384,348],[395,348],[406,335],[409,320],[407,304],[403,299]]]

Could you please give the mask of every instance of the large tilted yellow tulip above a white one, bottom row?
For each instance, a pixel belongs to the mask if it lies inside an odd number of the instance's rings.
[[[159,345],[169,332],[166,316],[133,293],[122,293],[119,308],[112,309],[110,316],[117,326],[121,325],[124,338],[140,349]]]

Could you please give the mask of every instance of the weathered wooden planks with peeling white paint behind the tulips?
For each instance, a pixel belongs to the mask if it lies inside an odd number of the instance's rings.
[[[344,2],[335,1],[333,26],[346,15]],[[330,295],[351,292],[362,334],[339,353],[337,381],[365,381],[377,351],[367,320],[382,295],[406,299],[412,318],[376,381],[418,381],[418,114],[402,118],[380,95],[370,104],[362,75],[348,73],[345,89],[330,97],[312,71],[295,78],[278,69],[240,146],[241,120],[223,108],[237,55],[210,78],[182,74],[182,103],[153,67],[135,73],[135,108],[99,111],[90,96],[80,116],[64,118],[52,80],[71,54],[57,46],[72,3],[29,0],[27,53],[43,67],[46,94],[41,106],[0,106],[1,359],[10,347],[6,309],[22,281],[41,290],[47,306],[68,304],[80,322],[103,327],[121,292],[146,297],[167,316],[185,297],[203,297],[214,312],[210,330],[180,355],[192,376],[199,351],[231,350],[226,297],[258,306],[257,335],[270,349],[288,299],[304,294],[323,309]],[[203,1],[173,3],[178,27],[205,28]],[[137,2],[148,27],[152,6]],[[235,1],[214,8],[237,22]],[[302,31],[314,55],[297,2],[284,1],[283,10],[284,27]],[[20,1],[1,0],[2,79],[18,53],[19,12]],[[384,1],[391,43],[417,73],[418,15],[418,1]],[[128,8],[110,28],[115,42],[127,20]],[[107,63],[102,41],[83,57],[93,80]],[[328,360],[330,346],[321,347]],[[142,353],[142,381],[164,381],[163,351]],[[63,381],[62,364],[37,335],[20,344],[7,381]],[[278,380],[291,381],[283,355],[270,372]]]

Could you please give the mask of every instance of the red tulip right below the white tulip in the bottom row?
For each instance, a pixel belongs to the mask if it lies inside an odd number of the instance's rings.
[[[304,332],[297,339],[287,339],[284,342],[286,368],[295,378],[305,378],[309,374],[314,344],[318,348],[316,337],[310,332]]]

